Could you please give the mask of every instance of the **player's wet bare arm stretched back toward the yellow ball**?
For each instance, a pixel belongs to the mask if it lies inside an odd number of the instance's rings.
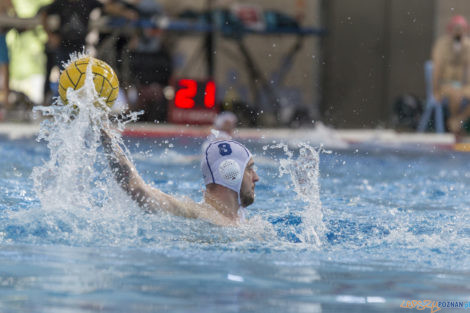
[[[165,210],[178,216],[197,217],[191,210],[192,206],[146,184],[134,164],[129,161],[121,147],[113,143],[106,130],[101,130],[101,142],[117,182],[139,206],[150,212]]]

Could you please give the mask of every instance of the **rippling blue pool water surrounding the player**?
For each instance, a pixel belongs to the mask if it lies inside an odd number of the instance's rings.
[[[142,212],[93,138],[76,153],[71,135],[57,136],[0,137],[1,312],[407,312],[404,300],[470,301],[468,154],[357,147],[320,152],[316,169],[309,146],[299,160],[282,140],[245,141],[257,198],[248,225],[224,229]],[[147,182],[202,199],[201,139],[125,143]]]

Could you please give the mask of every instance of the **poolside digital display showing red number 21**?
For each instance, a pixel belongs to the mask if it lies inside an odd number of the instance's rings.
[[[219,105],[212,80],[180,79],[169,103],[168,120],[177,124],[212,124]]]

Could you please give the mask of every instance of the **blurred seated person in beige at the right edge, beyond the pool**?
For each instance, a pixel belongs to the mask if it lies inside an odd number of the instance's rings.
[[[437,101],[448,105],[448,129],[459,134],[470,117],[470,39],[468,23],[454,16],[447,34],[439,38],[432,50],[433,94]]]

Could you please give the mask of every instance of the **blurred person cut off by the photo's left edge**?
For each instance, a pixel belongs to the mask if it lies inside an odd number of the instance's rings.
[[[0,1],[0,15],[16,15],[11,0]],[[0,79],[2,81],[0,90],[3,94],[3,97],[0,98],[0,119],[3,119],[5,110],[10,108],[10,103],[8,101],[8,95],[10,94],[10,58],[8,56],[6,33],[6,29],[0,28]]]

